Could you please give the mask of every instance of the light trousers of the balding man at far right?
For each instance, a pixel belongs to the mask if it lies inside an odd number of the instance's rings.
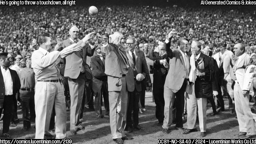
[[[247,132],[247,135],[256,135],[254,120],[249,104],[249,94],[242,94],[239,84],[234,85],[235,109],[240,132]]]

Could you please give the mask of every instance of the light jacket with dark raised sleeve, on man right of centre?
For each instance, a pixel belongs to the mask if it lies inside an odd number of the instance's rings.
[[[180,53],[179,49],[170,49],[170,42],[164,43],[164,48],[167,53],[167,57],[170,58],[169,60],[169,71],[166,76],[164,86],[172,89],[173,92],[177,92],[183,85],[184,78],[186,75],[186,71],[189,74],[190,65],[187,64],[187,69],[185,67],[185,61],[183,59],[182,54]],[[189,54],[187,53],[188,60],[190,59]],[[156,60],[156,65],[159,65],[159,59]],[[187,77],[188,78],[188,77]],[[192,86],[187,85],[186,92],[188,94],[192,94]]]

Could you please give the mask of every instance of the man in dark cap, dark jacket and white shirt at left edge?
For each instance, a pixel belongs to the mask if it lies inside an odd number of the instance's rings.
[[[3,136],[9,138],[8,134],[10,120],[12,116],[13,101],[20,89],[20,80],[17,72],[9,68],[14,57],[8,57],[7,53],[0,53],[0,115],[4,109],[3,117]]]

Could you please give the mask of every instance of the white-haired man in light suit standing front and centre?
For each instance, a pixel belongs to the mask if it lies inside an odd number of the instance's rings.
[[[109,116],[112,138],[116,143],[130,140],[124,134],[127,110],[127,91],[134,91],[134,76],[128,59],[121,52],[121,39],[123,35],[115,32],[111,43],[104,41],[101,52],[106,54],[105,74],[108,76]]]

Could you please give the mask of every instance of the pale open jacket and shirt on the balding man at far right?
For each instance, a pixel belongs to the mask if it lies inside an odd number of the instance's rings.
[[[242,90],[247,90],[247,86],[243,87],[244,81],[247,79],[244,78],[245,72],[246,72],[246,67],[250,65],[250,56],[246,53],[243,53],[241,56],[240,61],[236,61],[236,65],[233,66],[230,77],[232,80],[237,80],[239,86],[241,87]]]

